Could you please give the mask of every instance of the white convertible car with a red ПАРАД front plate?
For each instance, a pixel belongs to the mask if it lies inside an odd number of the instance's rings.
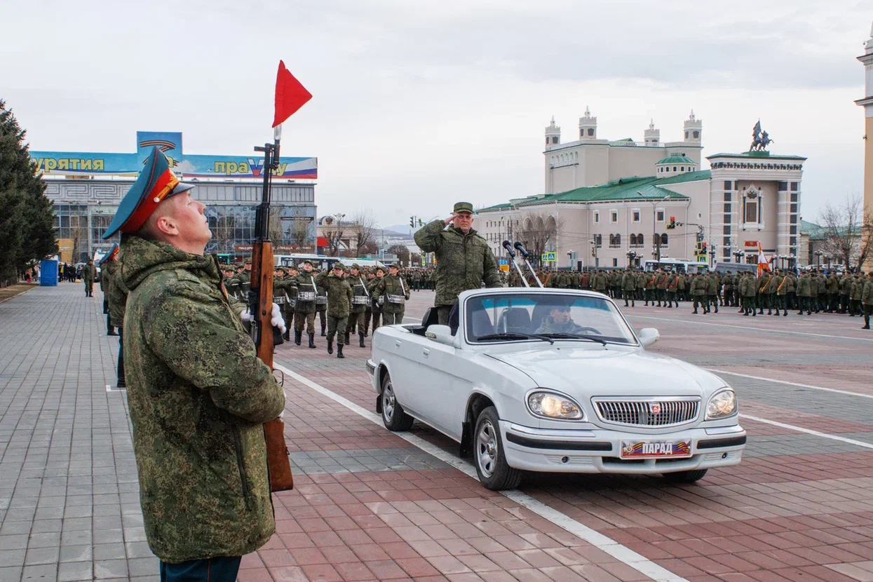
[[[523,470],[663,474],[678,483],[739,463],[746,431],[737,397],[697,366],[647,353],[600,293],[464,291],[451,325],[388,325],[368,373],[393,431],[422,421],[472,455],[491,490]]]

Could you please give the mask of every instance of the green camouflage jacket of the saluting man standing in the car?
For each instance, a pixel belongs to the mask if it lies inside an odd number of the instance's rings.
[[[436,253],[436,299],[434,305],[455,305],[457,296],[468,289],[500,287],[494,253],[484,238],[470,229],[466,235],[435,220],[416,232],[416,244],[424,252]]]

